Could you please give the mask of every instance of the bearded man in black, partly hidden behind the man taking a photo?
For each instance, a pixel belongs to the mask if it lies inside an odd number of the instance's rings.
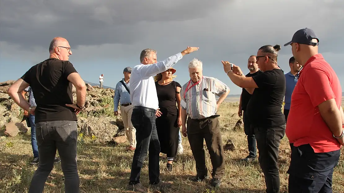
[[[261,70],[259,70],[257,59],[256,59],[256,56],[254,55],[248,58],[247,68],[250,72],[246,74],[246,77],[252,77],[252,76],[263,73]],[[248,144],[248,151],[249,151],[248,156],[244,159],[241,159],[243,161],[253,161],[256,159],[256,155],[257,155],[256,154],[257,153],[256,137],[254,135],[253,129],[251,127],[251,122],[247,116],[247,111],[246,111],[246,107],[250,98],[251,98],[251,94],[248,93],[245,88],[243,88],[243,91],[241,92],[241,95],[240,95],[238,115],[239,117],[243,115],[244,132],[247,135],[247,144]]]

